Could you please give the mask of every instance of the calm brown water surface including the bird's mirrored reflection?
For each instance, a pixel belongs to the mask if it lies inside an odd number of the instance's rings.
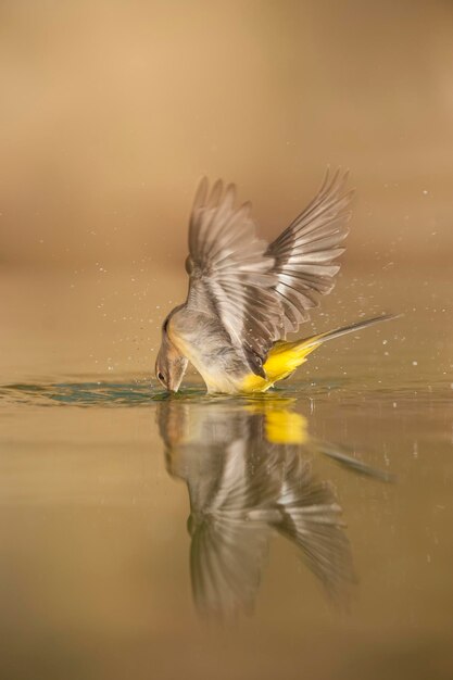
[[[78,370],[99,327],[17,335],[16,308],[2,677],[450,678],[452,345],[432,306],[240,399],[194,376],[168,399],[115,356]]]

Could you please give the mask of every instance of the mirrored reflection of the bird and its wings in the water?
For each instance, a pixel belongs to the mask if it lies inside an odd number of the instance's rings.
[[[306,419],[289,400],[160,402],[168,473],[190,498],[190,574],[201,614],[251,613],[273,531],[335,599],[354,580],[341,507],[312,470]]]

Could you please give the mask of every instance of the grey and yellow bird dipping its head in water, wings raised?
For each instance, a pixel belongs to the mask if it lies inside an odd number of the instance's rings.
[[[236,186],[205,177],[189,221],[186,302],[162,325],[155,376],[177,392],[190,362],[207,393],[265,392],[328,340],[381,320],[287,341],[335,286],[344,252],[353,190],[349,172],[325,174],[305,210],[270,243],[256,236],[250,203],[237,205]]]

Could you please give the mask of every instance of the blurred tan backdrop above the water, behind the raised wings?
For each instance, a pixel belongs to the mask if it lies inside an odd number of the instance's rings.
[[[3,0],[0,36],[1,264],[179,268],[202,174],[269,237],[328,163],[351,263],[451,263],[452,2]]]

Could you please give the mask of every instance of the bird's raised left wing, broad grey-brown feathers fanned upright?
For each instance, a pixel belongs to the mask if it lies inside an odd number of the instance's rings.
[[[214,312],[236,347],[265,357],[282,331],[275,259],[256,238],[250,204],[235,205],[234,185],[202,179],[189,228],[188,306]]]

